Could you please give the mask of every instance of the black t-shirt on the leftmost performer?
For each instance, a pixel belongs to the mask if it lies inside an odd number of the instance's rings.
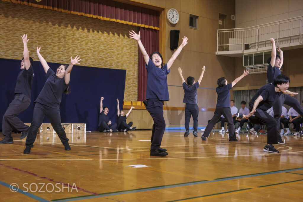
[[[26,70],[22,69],[17,77],[17,83],[15,86],[15,94],[21,93],[28,97],[32,94],[32,84],[33,84],[34,70],[32,65]]]

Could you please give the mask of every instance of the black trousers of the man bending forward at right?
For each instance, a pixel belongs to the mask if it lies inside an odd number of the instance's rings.
[[[282,108],[282,107],[281,107]],[[251,111],[251,108],[250,108]],[[267,144],[278,144],[277,121],[269,115],[266,111],[257,108],[254,113],[255,116],[249,117],[249,120],[254,124],[266,125],[267,126]]]

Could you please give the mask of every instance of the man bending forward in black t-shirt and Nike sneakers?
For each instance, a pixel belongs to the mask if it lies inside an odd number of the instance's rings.
[[[248,117],[255,124],[267,126],[267,145],[263,151],[279,153],[272,144],[278,144],[277,121],[266,111],[271,108],[282,93],[288,93],[290,79],[286,75],[278,75],[273,83],[260,88],[249,102],[251,112]],[[252,116],[254,114],[255,116]]]

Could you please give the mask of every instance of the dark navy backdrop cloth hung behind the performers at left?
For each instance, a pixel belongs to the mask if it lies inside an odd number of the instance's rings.
[[[20,69],[21,60],[0,58],[0,130],[2,131],[2,117],[14,99],[14,89]],[[56,72],[61,64],[48,62],[48,66]],[[24,123],[31,123],[34,101],[38,97],[46,81],[45,71],[40,61],[34,61],[34,78],[32,86],[31,104],[19,114]],[[98,130],[100,98],[104,97],[103,106],[109,109],[109,118],[117,123],[117,101],[122,109],[126,70],[74,66],[71,72],[70,94],[62,95],[60,105],[61,123],[86,123],[86,130]],[[49,123],[45,117],[43,123]]]

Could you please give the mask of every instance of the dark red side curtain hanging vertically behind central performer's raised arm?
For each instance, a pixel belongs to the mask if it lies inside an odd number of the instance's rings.
[[[154,51],[159,51],[159,30],[140,28],[142,44],[148,55]],[[138,101],[144,101],[146,98],[147,71],[145,61],[141,51],[138,55]]]

